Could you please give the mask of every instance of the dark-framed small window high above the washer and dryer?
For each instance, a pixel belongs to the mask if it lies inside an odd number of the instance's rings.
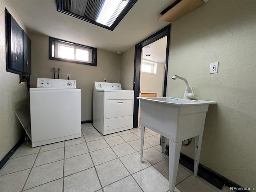
[[[49,59],[97,66],[97,49],[50,37]]]

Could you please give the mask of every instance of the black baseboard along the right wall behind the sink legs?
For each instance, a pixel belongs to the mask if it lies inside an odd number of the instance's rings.
[[[169,156],[169,146],[166,146],[166,155]],[[184,155],[180,154],[180,161],[179,163],[189,169],[190,171],[194,172],[194,159]],[[229,179],[225,178],[224,176],[218,174],[217,172],[211,170],[210,168],[202,165],[199,163],[198,166],[198,176],[215,186],[216,188],[222,190],[224,185],[228,187],[236,187],[236,188],[242,188],[238,184],[230,181]],[[248,190],[236,190],[239,192],[249,192]]]

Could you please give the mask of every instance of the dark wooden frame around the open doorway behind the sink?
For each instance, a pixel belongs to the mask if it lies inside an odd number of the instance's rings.
[[[142,42],[135,45],[135,56],[134,56],[134,112],[133,112],[133,128],[138,127],[138,113],[139,113],[139,100],[137,97],[140,96],[140,64],[141,64],[141,54],[142,48],[148,44],[151,44],[164,36],[167,36],[166,42],[166,58],[165,58],[165,72],[164,72],[164,93],[163,96],[166,97],[166,86],[167,86],[167,70],[168,70],[168,58],[169,58],[169,46],[170,46],[170,32],[171,24],[162,28],[155,34],[149,36]]]

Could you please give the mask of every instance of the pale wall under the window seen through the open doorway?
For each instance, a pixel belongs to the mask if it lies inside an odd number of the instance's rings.
[[[158,97],[163,96],[164,67],[165,64],[157,63],[156,74],[141,73],[141,92],[157,92]]]

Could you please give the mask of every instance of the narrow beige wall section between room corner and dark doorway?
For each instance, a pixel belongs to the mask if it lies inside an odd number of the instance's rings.
[[[134,46],[121,54],[120,83],[122,89],[133,90]]]

